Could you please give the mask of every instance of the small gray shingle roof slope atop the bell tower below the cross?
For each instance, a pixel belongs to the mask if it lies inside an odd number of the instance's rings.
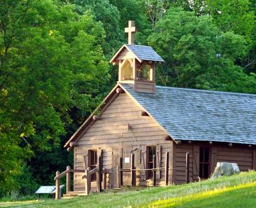
[[[140,46],[140,45],[128,45],[126,47],[129,48],[132,53],[137,55],[137,57],[141,60],[146,61],[164,61],[160,55],[154,51],[151,46]]]

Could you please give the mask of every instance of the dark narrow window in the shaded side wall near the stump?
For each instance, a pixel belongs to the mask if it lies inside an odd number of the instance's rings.
[[[209,147],[200,147],[199,150],[199,177],[201,179],[208,179],[210,176],[210,162]]]

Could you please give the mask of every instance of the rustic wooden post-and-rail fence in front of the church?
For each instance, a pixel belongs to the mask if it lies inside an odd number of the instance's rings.
[[[82,179],[85,179],[85,195],[89,195],[91,192],[91,175],[96,173],[96,183],[97,183],[97,192],[102,192],[102,190],[106,190],[106,178],[107,174],[113,173],[113,171],[117,171],[118,175],[118,185],[119,188],[123,185],[123,173],[124,172],[130,172],[131,176],[131,184],[132,186],[136,185],[136,171],[150,171],[153,172],[153,186],[156,185],[156,170],[165,170],[165,185],[168,185],[169,183],[169,170],[179,170],[179,169],[185,169],[186,170],[186,183],[189,182],[189,153],[186,153],[186,166],[181,168],[169,168],[169,152],[166,152],[165,154],[165,167],[156,168],[156,155],[153,155],[153,168],[144,168],[144,169],[137,169],[134,168],[134,153],[131,153],[130,155],[131,163],[130,168],[122,168],[122,158],[119,158],[119,166],[117,168],[111,168],[111,169],[102,169],[102,162],[101,162],[101,156],[98,157],[98,164],[97,167],[94,169],[91,169],[90,167],[86,170],[79,170],[79,169],[71,169],[70,166],[67,166],[66,170],[60,173],[59,171],[56,172],[55,176],[55,184],[56,184],[56,192],[55,192],[55,199],[61,198],[60,196],[60,179],[66,175],[66,193],[71,191],[70,188],[70,181],[71,181],[71,173],[85,173],[83,175]],[[103,183],[103,187],[102,187]]]

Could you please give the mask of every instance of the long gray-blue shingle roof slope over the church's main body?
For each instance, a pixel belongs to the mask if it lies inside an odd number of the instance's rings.
[[[256,145],[256,95],[156,86],[156,94],[122,87],[175,140]]]

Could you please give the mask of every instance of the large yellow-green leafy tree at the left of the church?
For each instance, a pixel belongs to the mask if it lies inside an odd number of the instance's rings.
[[[104,29],[90,14],[51,0],[2,1],[0,8],[0,191],[5,192],[14,188],[24,160],[33,173],[46,176],[37,179],[41,184],[63,169],[66,158],[58,155],[67,154],[61,153],[61,138],[102,99],[109,66],[101,47]]]

